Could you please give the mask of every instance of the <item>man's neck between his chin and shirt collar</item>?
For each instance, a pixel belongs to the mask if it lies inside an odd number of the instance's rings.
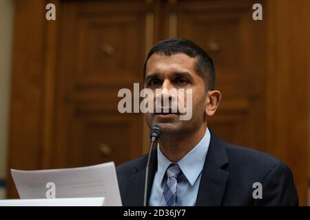
[[[161,152],[171,162],[178,162],[203,139],[206,130],[207,126],[201,126],[198,131],[188,135],[180,135],[173,138],[161,137],[159,141]]]

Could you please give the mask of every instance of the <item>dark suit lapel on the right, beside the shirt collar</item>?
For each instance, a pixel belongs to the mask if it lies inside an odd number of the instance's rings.
[[[196,206],[220,206],[229,173],[226,143],[210,130],[211,140],[200,179]]]

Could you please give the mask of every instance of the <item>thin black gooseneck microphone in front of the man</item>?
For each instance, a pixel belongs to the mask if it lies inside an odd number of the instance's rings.
[[[151,143],[149,144],[149,156],[147,157],[147,166],[145,168],[145,183],[144,183],[144,201],[143,206],[147,206],[147,184],[149,181],[149,160],[151,159],[153,144],[158,140],[158,138],[161,136],[161,126],[158,124],[155,124],[151,132],[149,133],[149,137],[151,138]]]

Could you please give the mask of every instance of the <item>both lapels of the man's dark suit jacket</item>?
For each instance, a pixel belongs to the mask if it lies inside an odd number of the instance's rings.
[[[196,206],[220,206],[225,192],[229,173],[222,169],[228,163],[226,143],[210,130],[211,140],[209,150],[203,166],[198,188]],[[136,173],[128,178],[126,203],[124,206],[143,206],[145,166],[147,155],[135,167]],[[152,189],[154,175],[157,169],[157,148],[152,152],[149,164],[149,184],[147,187],[147,201]]]

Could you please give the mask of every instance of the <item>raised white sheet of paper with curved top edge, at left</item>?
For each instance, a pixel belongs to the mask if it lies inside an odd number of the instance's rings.
[[[122,206],[114,162],[53,170],[11,169],[21,199],[45,199],[49,182],[56,198],[105,197],[106,206]]]

